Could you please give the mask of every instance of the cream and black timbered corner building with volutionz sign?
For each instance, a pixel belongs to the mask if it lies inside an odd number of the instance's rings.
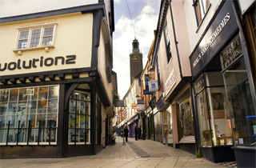
[[[98,153],[117,90],[114,2],[5,1],[0,14],[1,158]]]

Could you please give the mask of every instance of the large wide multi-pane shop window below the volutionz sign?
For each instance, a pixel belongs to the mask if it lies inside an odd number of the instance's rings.
[[[57,141],[58,86],[0,90],[0,143]]]

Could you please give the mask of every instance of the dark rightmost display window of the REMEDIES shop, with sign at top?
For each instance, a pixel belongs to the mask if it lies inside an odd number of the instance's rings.
[[[231,112],[230,127],[234,131],[234,144],[254,146],[256,112],[239,34],[222,50],[220,58]]]

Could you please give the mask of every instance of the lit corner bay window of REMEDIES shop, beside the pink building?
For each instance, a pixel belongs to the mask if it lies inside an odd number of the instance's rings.
[[[205,84],[197,96],[201,146],[233,145],[230,113],[220,72],[204,73],[198,82]]]

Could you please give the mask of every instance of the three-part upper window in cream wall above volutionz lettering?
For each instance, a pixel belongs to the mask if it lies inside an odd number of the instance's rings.
[[[55,25],[34,26],[19,29],[16,49],[30,49],[54,45]]]

